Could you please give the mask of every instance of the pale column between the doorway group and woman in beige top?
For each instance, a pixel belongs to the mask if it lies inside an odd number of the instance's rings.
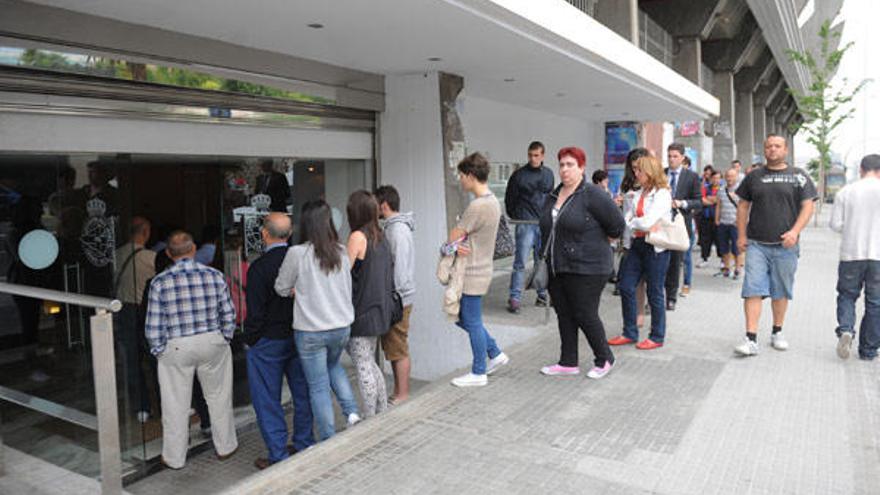
[[[385,77],[385,111],[379,114],[381,182],[394,184],[400,192],[403,211],[412,211],[415,220],[427,228],[416,231],[416,294],[410,335],[413,377],[431,380],[461,366],[456,353],[465,356],[467,348],[452,331],[438,301],[443,287],[437,283],[437,246],[446,238],[446,176],[452,172],[444,162],[440,112],[440,76],[426,74]],[[462,339],[463,340],[463,339]]]

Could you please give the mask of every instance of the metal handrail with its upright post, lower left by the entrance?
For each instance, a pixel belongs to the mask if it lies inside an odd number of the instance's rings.
[[[101,493],[122,493],[122,459],[119,443],[119,411],[116,400],[116,357],[114,355],[113,315],[122,309],[117,299],[71,294],[40,287],[0,282],[0,293],[32,297],[47,301],[94,308],[95,315],[89,320],[92,345],[92,373],[95,382],[95,410],[98,430],[98,454],[101,458]],[[24,393],[0,390],[0,399],[46,413],[48,401],[35,400]],[[8,396],[7,396],[8,395]],[[83,414],[50,414],[80,426],[92,427],[91,416]],[[5,474],[3,462],[3,438],[0,435],[0,476]]]

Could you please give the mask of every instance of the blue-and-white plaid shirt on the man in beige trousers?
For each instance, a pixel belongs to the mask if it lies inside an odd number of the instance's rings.
[[[235,309],[223,274],[184,258],[156,275],[145,326],[154,356],[165,350],[169,339],[221,331],[232,340]]]

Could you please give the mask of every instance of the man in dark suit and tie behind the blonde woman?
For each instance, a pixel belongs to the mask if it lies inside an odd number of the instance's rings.
[[[684,224],[688,229],[688,236],[693,239],[692,219],[694,213],[703,209],[703,193],[700,187],[700,176],[682,164],[685,161],[684,145],[672,143],[666,149],[669,159],[669,168],[666,175],[669,178],[669,187],[672,189],[672,211],[674,214],[684,216]],[[669,270],[666,272],[666,310],[675,311],[675,302],[678,299],[678,282],[681,273],[681,262],[685,253],[672,251],[669,257]],[[686,286],[690,289],[689,286]]]

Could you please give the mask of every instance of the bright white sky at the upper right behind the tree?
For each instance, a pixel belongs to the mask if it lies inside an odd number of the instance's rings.
[[[855,170],[862,156],[880,153],[880,1],[845,0],[841,20],[846,22],[841,46],[850,41],[855,45],[846,52],[833,84],[839,87],[846,78],[849,87],[854,87],[862,79],[874,80],[853,101],[853,118],[841,124],[833,136],[832,151]],[[804,133],[799,133],[795,138],[795,160],[804,163],[817,155]]]

